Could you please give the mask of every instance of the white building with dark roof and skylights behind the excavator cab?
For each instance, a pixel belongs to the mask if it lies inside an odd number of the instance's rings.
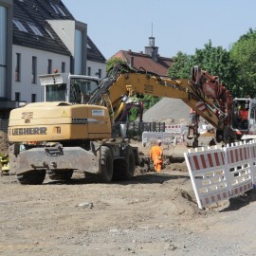
[[[61,0],[0,0],[0,119],[21,102],[44,101],[39,75],[103,78],[105,61]]]

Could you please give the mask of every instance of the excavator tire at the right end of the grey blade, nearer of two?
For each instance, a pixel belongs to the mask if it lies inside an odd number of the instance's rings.
[[[101,182],[109,183],[113,178],[113,155],[111,150],[106,146],[101,146]]]

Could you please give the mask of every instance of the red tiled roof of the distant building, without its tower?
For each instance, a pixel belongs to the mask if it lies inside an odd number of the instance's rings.
[[[133,67],[136,69],[144,68],[147,71],[154,72],[160,76],[166,76],[168,67],[173,64],[171,58],[165,58],[158,56],[158,60],[155,61],[150,55],[144,53],[137,53],[131,50],[119,50],[112,58],[119,58],[127,64],[131,63],[132,57],[134,58]]]

